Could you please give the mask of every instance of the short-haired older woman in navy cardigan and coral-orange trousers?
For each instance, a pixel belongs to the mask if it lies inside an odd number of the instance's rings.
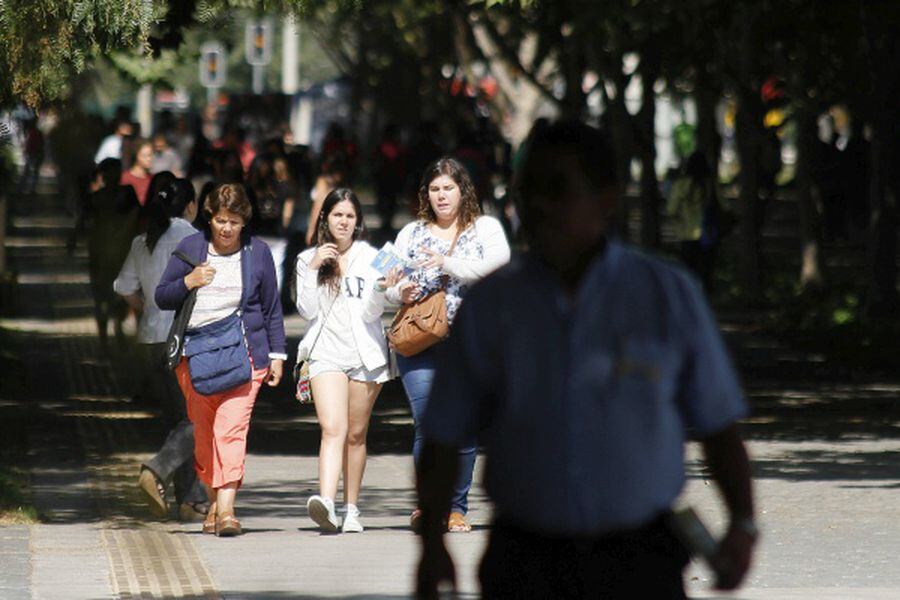
[[[281,380],[287,358],[284,320],[272,253],[264,242],[244,232],[252,209],[243,187],[218,186],[203,210],[209,231],[187,237],[178,246],[198,266],[173,255],[156,288],[156,303],[164,310],[175,310],[191,290],[197,289],[188,332],[224,319],[242,307],[241,320],[253,367],[249,381],[204,395],[191,383],[187,360],[182,358],[175,370],[194,424],[197,476],[212,500],[203,532],[233,536],[241,533],[241,524],[234,516],[234,499],[244,478],[250,413],[262,384],[277,386]]]

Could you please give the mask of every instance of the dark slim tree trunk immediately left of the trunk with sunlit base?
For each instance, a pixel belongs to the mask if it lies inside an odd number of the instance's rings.
[[[735,136],[741,161],[738,211],[738,284],[746,299],[758,301],[762,296],[760,269],[759,178],[757,154],[760,146],[762,107],[752,90],[742,90],[738,97]]]

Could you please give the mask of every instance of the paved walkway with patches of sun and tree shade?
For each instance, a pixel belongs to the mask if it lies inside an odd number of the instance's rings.
[[[218,539],[198,524],[153,521],[136,489],[138,465],[161,443],[155,410],[134,400],[138,374],[126,345],[102,358],[84,277],[84,253],[61,250],[65,219],[19,218],[9,240],[19,267],[12,330],[27,397],[0,398],[0,418],[27,411],[40,524],[0,527],[0,598],[402,598],[412,589],[417,538],[411,421],[396,382],[376,406],[361,535],[320,535],[305,516],[315,488],[318,430],[287,385],[266,390],[254,414],[238,510],[246,535]],[[687,574],[692,597],[900,598],[900,381],[844,374],[723,314],[753,400],[744,424],[756,474],[763,538],[747,586],[710,590]],[[288,319],[296,342],[302,323]],[[6,374],[4,374],[6,375]],[[722,514],[688,449],[684,500],[713,529]],[[479,463],[479,470],[480,470]],[[463,597],[490,507],[473,494],[475,530],[449,537]]]

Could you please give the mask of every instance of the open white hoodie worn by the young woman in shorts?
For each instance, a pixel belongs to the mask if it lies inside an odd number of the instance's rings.
[[[308,248],[297,257],[297,312],[310,322],[306,335],[300,340],[297,356],[309,357],[311,346],[322,328],[322,319],[331,306],[332,292],[318,284],[318,269],[310,269],[309,263],[316,248]],[[363,366],[374,371],[388,364],[387,340],[381,325],[384,312],[384,292],[375,290],[375,281],[382,277],[372,267],[378,251],[367,242],[355,241],[347,254],[348,272],[341,273],[341,291],[350,309],[350,329],[353,341],[359,349]]]

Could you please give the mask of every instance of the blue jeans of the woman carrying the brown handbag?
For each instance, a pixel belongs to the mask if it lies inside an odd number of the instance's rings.
[[[419,464],[422,444],[425,436],[422,433],[422,418],[428,405],[428,392],[434,380],[435,349],[428,348],[409,358],[397,355],[397,367],[400,369],[400,380],[409,399],[409,408],[413,414],[415,439],[413,441],[413,459]],[[475,470],[477,446],[472,441],[459,449],[459,475],[453,486],[453,498],[450,501],[451,512],[466,514],[469,511],[469,488],[472,487],[472,472]]]

